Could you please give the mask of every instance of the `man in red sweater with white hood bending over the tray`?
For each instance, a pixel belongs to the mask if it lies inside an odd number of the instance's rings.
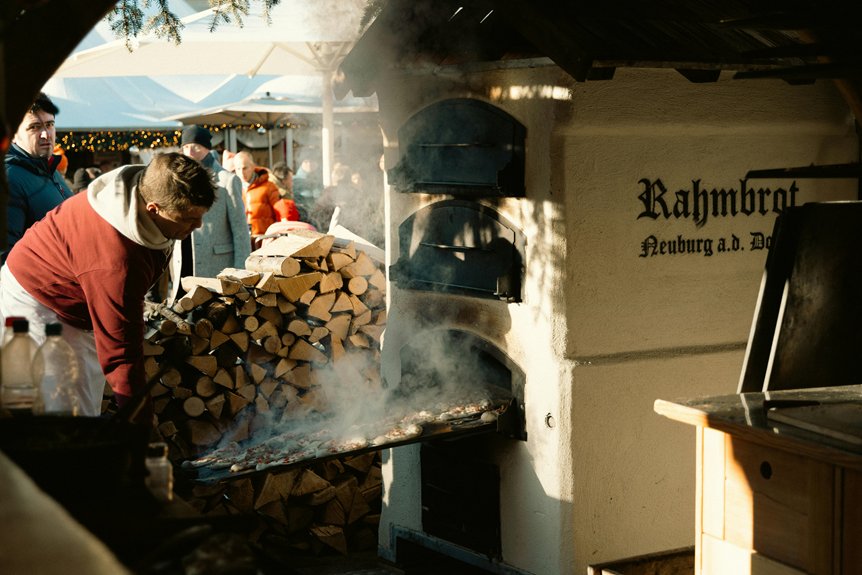
[[[144,295],[176,240],[201,226],[215,198],[209,173],[182,154],[108,172],[27,230],[0,270],[0,315],[30,320],[31,337],[60,321],[84,368],[81,415],[101,413],[105,380],[122,406],[146,380]]]

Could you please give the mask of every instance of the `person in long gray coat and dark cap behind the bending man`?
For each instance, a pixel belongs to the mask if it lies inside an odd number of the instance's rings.
[[[174,246],[171,260],[171,287],[168,301],[182,297],[179,278],[186,276],[216,277],[225,268],[245,267],[251,252],[251,236],[242,200],[242,184],[210,153],[212,134],[202,126],[183,130],[182,152],[200,162],[218,184],[216,201],[203,218],[200,229]]]

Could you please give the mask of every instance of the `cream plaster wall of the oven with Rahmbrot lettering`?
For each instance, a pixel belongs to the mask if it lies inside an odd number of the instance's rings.
[[[529,440],[499,455],[504,560],[541,575],[585,573],[590,564],[692,545],[694,432],[652,406],[735,392],[767,253],[752,249],[752,234],[768,237],[775,213],[770,203],[766,215],[710,214],[701,226],[691,217],[639,218],[641,180],[660,179],[672,208],[695,180],[738,190],[750,169],[855,161],[857,139],[837,92],[828,83],[730,76],[691,84],[671,70],[618,70],[613,80],[576,84],[544,68],[408,76],[379,96],[388,167],[398,159],[398,126],[443,97],[490,101],[527,126],[527,198],[494,204],[527,234],[525,298],[503,306],[507,329],[495,336],[527,371]],[[748,182],[771,190],[792,183]],[[797,205],[856,194],[855,181],[795,187]],[[390,232],[436,199],[391,194]],[[742,249],[640,257],[646,238],[680,235],[731,245],[736,237]],[[417,297],[390,292],[384,363],[387,346],[409,339],[399,325],[410,322],[398,316]],[[545,425],[547,414],[555,427]],[[416,456],[399,449],[385,470],[383,547],[390,525],[420,523]]]

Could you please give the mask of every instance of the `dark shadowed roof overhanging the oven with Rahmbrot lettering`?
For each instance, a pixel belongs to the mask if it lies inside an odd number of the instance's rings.
[[[862,117],[862,3],[836,0],[390,0],[344,59],[338,94],[367,95],[385,69],[554,64],[577,81],[617,68],[835,79]]]

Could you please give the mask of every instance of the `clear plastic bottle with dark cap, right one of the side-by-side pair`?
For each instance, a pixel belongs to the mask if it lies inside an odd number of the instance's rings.
[[[78,415],[81,365],[62,334],[60,323],[45,326],[45,341],[33,356],[33,382],[42,396],[41,413]]]

